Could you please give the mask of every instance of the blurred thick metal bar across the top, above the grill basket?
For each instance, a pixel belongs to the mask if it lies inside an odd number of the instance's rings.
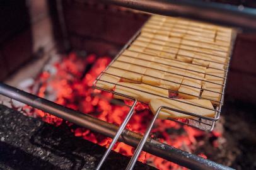
[[[102,2],[165,16],[182,16],[218,25],[256,30],[256,10],[253,8],[190,0],[102,0]]]

